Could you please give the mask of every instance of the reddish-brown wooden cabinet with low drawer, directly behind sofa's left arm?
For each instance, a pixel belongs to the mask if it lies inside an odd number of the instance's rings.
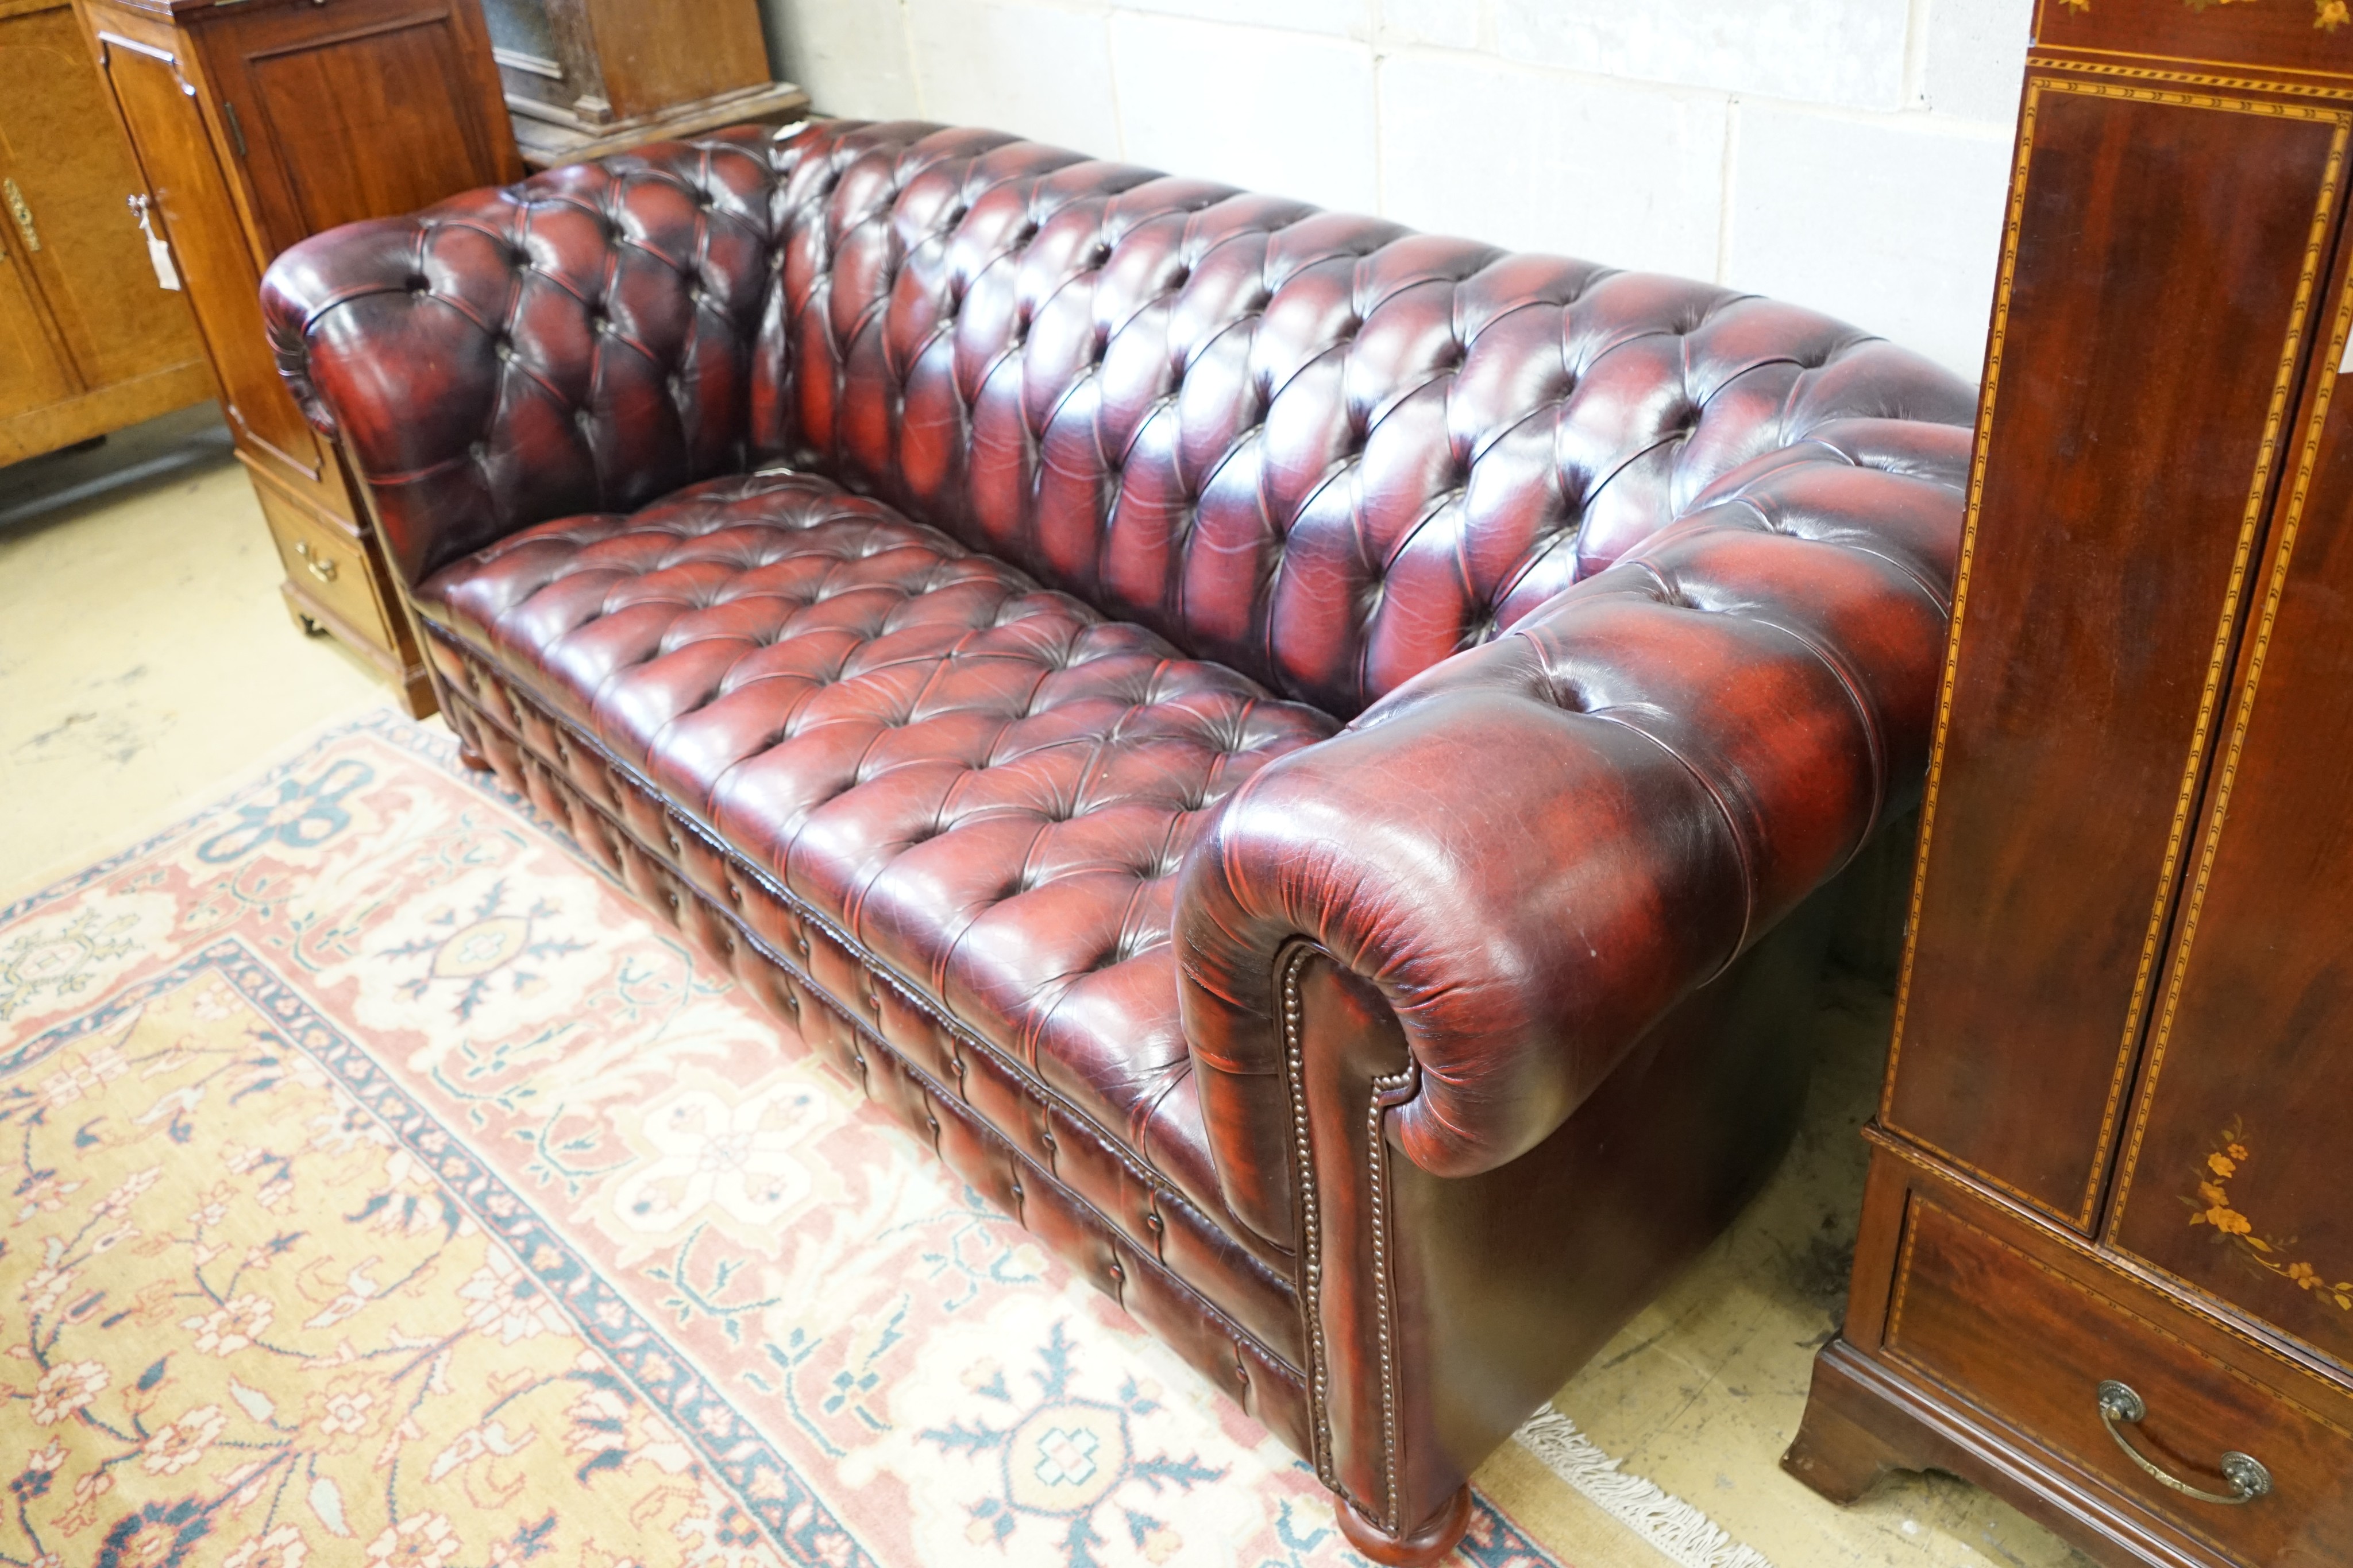
[[[278,381],[261,270],[336,223],[522,176],[475,0],[78,0],[221,409],[285,559],[287,609],[433,712],[416,632],[341,454]]]

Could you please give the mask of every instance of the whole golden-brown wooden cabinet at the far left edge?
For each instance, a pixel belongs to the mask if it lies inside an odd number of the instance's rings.
[[[0,463],[212,397],[68,0],[0,0]]]

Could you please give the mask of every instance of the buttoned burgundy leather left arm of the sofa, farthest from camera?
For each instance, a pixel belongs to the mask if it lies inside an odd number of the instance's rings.
[[[741,127],[346,223],[271,263],[278,369],[344,442],[409,583],[744,463],[793,162]]]

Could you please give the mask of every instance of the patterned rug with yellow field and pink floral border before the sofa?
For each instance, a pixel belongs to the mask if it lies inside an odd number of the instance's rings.
[[[0,910],[0,1563],[1358,1561],[438,726]]]

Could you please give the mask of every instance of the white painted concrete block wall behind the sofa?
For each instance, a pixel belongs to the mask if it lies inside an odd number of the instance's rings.
[[[2033,0],[762,0],[838,115],[1711,277],[1974,378]]]

